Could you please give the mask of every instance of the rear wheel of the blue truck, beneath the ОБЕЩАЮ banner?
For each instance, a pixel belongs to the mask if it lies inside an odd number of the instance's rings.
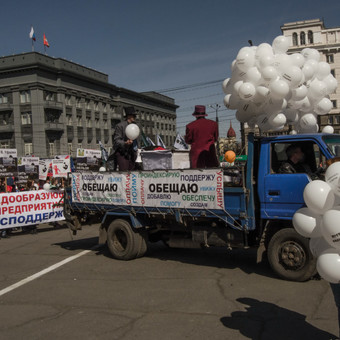
[[[128,261],[142,256],[144,243],[145,239],[126,220],[116,219],[107,229],[107,246],[115,259]]]

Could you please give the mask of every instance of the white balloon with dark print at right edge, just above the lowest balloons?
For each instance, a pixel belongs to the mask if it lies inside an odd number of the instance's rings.
[[[322,218],[322,235],[328,244],[340,249],[340,207],[326,211]]]

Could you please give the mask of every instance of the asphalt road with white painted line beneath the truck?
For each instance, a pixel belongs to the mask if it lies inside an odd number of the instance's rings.
[[[73,236],[40,225],[36,235],[0,240],[0,339],[328,340],[338,332],[327,282],[280,280],[253,250],[157,243],[124,262],[94,249],[97,236],[98,226]]]

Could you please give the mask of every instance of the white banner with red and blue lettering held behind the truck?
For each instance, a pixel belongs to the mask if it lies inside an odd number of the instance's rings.
[[[0,229],[64,220],[63,197],[62,191],[45,190],[1,194]]]

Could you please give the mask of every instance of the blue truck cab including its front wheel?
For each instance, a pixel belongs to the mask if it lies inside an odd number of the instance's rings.
[[[282,173],[286,150],[297,145],[305,155],[310,173]],[[302,134],[254,139],[254,206],[259,250],[265,249],[276,273],[303,281],[315,272],[308,240],[293,228],[294,213],[305,206],[303,192],[312,180],[324,180],[327,162],[340,156],[340,136]],[[262,243],[262,247],[261,247]]]

